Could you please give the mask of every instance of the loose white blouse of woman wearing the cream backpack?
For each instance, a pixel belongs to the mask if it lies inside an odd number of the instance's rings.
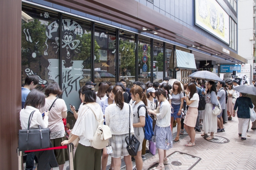
[[[103,119],[103,113],[99,104],[90,105],[94,110],[96,117],[99,120]],[[99,122],[96,120],[95,115],[85,104],[78,110],[78,118],[72,130],[74,135],[80,137],[79,143],[84,146],[91,146],[94,133],[98,128]]]

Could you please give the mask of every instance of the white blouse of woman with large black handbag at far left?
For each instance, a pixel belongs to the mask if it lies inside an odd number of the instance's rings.
[[[32,106],[26,106],[26,109],[23,108],[22,110],[20,110],[20,125],[21,128],[24,129],[28,129],[28,119],[30,116],[31,112],[34,112],[31,123],[30,123],[30,128],[38,128],[38,125],[41,126],[41,128],[47,128],[48,126],[48,116],[45,116],[44,119],[42,117],[42,113],[39,112],[39,110],[37,108],[34,108]]]

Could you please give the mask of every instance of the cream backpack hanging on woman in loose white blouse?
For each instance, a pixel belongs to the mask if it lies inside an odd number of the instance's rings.
[[[94,114],[96,120],[98,121],[99,125],[98,128],[96,129],[96,132],[93,135],[93,141],[91,142],[91,146],[93,146],[93,148],[96,149],[103,149],[106,146],[108,146],[108,139],[112,137],[110,128],[107,125],[104,125],[104,119],[100,120],[96,117],[93,109],[86,105]],[[100,115],[102,114],[102,112],[100,112]]]

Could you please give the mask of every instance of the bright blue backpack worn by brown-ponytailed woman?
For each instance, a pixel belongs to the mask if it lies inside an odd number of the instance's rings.
[[[138,117],[139,117],[139,109],[140,109],[141,107],[145,107],[145,109],[146,109],[145,126],[143,127],[144,135],[145,135],[144,138],[145,138],[146,140],[150,141],[151,138],[152,138],[153,135],[154,135],[154,132],[153,132],[153,125],[152,125],[152,124],[153,124],[153,120],[152,120],[152,118],[151,118],[150,116],[148,116],[148,112],[147,112],[147,108],[146,108],[145,104],[139,105],[138,111],[137,111]]]

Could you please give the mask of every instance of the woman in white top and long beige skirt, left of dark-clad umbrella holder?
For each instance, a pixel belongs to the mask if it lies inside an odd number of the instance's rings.
[[[232,112],[234,110],[234,104],[232,102],[233,95],[236,95],[236,91],[233,88],[232,82],[228,82],[228,101],[227,101],[227,112],[228,112],[228,120],[232,120]]]

